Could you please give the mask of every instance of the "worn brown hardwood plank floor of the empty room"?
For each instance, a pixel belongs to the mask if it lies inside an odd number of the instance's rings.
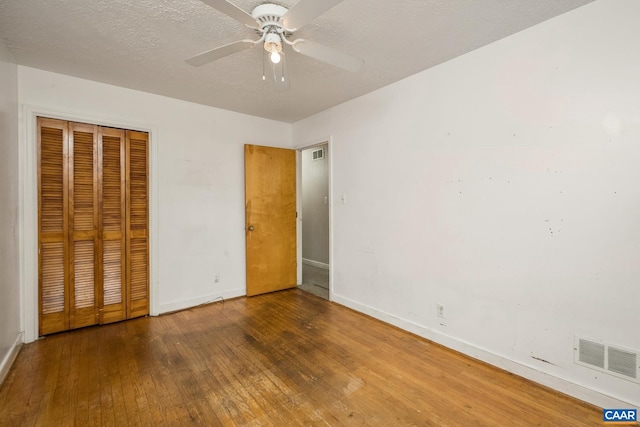
[[[600,425],[601,410],[300,290],[49,336],[1,425]]]

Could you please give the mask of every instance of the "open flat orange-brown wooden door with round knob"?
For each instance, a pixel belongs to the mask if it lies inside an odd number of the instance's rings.
[[[247,295],[296,286],[296,152],[244,146]]]

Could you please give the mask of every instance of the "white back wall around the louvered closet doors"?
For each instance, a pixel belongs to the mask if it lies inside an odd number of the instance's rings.
[[[150,130],[151,286],[157,311],[245,294],[243,144],[290,147],[289,124],[32,68],[18,70],[24,145],[30,149],[22,157],[25,169],[31,166],[25,176],[28,271],[37,272],[33,116],[44,111]],[[216,273],[219,283],[214,283]],[[24,286],[26,337],[33,339],[37,276],[25,278]]]

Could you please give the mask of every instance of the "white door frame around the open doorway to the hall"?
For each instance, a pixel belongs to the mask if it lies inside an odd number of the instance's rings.
[[[327,175],[329,179],[329,301],[333,299],[333,137],[322,138],[294,145],[296,150],[296,211],[298,221],[296,227],[296,248],[298,260],[298,285],[302,284],[302,151],[309,148],[327,145]]]

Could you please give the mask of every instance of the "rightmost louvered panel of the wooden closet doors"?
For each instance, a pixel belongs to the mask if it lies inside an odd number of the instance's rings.
[[[127,131],[128,318],[149,314],[149,135]]]

